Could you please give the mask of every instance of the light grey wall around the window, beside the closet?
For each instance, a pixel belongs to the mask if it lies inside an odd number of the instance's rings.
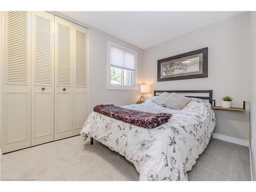
[[[135,104],[140,97],[139,84],[142,82],[143,50],[92,27],[90,27],[89,33],[89,112],[97,104],[115,104],[118,106]],[[115,42],[138,52],[137,91],[106,89],[107,41]]]

